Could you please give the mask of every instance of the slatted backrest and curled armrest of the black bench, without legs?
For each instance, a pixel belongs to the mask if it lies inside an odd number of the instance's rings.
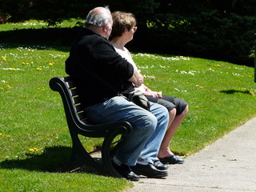
[[[120,121],[98,125],[90,123],[86,118],[84,107],[79,101],[75,83],[70,77],[51,78],[49,85],[52,90],[58,91],[62,97],[66,121],[72,137],[77,137],[77,134],[94,138],[105,137],[110,130],[117,128],[121,134],[128,135],[131,133],[132,126],[129,122]]]

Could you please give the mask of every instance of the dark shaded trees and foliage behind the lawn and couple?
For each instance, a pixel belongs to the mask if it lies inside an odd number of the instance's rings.
[[[111,11],[122,10],[136,16],[138,31],[127,45],[133,51],[253,66],[254,0],[2,0],[0,16],[11,16],[10,22],[34,18],[53,26],[64,19],[85,18],[95,6],[106,5]]]

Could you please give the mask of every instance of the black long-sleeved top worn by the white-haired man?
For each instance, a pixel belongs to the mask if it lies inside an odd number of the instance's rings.
[[[75,38],[66,59],[66,74],[74,78],[85,106],[133,89],[132,83],[127,81],[133,73],[134,67],[106,38],[86,28]]]

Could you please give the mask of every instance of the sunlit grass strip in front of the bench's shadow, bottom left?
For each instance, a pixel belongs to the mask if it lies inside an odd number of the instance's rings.
[[[0,170],[0,190],[9,191],[120,191],[127,189],[122,179],[92,174],[53,174],[26,170]],[[123,187],[126,183],[126,187]]]

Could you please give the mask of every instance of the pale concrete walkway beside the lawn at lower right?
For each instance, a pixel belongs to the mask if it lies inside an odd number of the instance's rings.
[[[140,178],[127,192],[256,191],[256,118],[185,160],[166,179]]]

